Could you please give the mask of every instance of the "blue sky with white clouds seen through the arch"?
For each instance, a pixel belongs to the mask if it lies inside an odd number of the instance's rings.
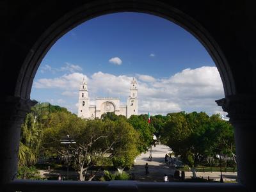
[[[125,103],[136,77],[139,113],[222,113],[214,100],[223,97],[223,86],[205,48],[188,31],[154,15],[113,13],[69,31],[38,68],[31,99],[77,113],[83,76],[92,104],[107,92]]]

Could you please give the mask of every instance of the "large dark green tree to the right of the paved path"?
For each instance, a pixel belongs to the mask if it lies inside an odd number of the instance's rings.
[[[169,113],[161,132],[166,143],[183,163],[195,168],[204,159],[214,159],[216,154],[234,156],[234,132],[232,126],[221,120],[220,115],[209,117],[206,113]],[[226,158],[227,159],[227,158]]]

